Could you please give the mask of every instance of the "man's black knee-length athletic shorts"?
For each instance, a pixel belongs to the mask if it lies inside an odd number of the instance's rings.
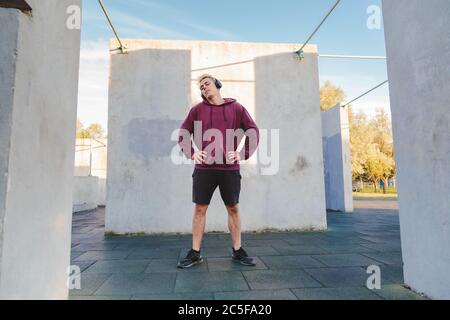
[[[220,196],[225,205],[239,203],[242,179],[239,170],[195,169],[192,178],[192,202],[209,204],[219,186]]]

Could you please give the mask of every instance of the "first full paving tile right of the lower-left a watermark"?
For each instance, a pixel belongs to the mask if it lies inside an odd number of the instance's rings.
[[[96,295],[135,295],[173,292],[175,273],[138,273],[113,274],[100,288]]]

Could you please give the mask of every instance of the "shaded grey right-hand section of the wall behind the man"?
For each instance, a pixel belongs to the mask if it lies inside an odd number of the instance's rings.
[[[266,188],[260,219],[273,228],[327,227],[316,50],[302,61],[292,53],[255,58],[255,116],[260,128],[279,130],[279,170],[257,181]]]

